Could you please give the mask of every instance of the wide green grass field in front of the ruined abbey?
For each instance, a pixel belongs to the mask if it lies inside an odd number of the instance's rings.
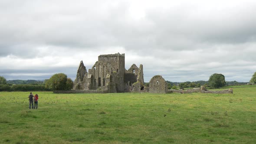
[[[256,143],[256,87],[233,94],[0,92],[0,143]]]

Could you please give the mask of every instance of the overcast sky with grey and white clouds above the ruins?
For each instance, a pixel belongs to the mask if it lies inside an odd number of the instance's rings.
[[[125,53],[144,80],[249,82],[256,72],[255,0],[0,0],[0,76],[75,79],[83,60]]]

